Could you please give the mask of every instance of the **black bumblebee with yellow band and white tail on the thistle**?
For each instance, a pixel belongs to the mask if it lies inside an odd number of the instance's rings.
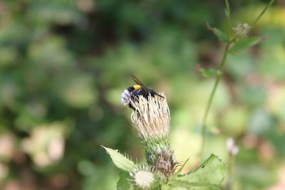
[[[122,95],[120,96],[120,101],[123,105],[129,105],[130,108],[135,110],[135,107],[133,107],[132,102],[137,101],[139,95],[142,95],[147,100],[149,95],[151,95],[152,97],[157,95],[159,97],[164,98],[162,95],[155,93],[155,91],[151,88],[145,87],[145,85],[134,75],[131,75],[131,77],[137,85],[130,86],[123,91]]]

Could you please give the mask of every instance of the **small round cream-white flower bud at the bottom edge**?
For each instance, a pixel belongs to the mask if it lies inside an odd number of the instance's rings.
[[[135,184],[140,188],[149,188],[152,182],[155,181],[153,174],[150,171],[137,171],[134,176]]]

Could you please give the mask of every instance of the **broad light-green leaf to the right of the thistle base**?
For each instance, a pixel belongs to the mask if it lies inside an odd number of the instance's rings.
[[[188,181],[190,183],[219,185],[225,178],[227,165],[216,155],[211,156],[195,171],[178,176],[177,180]]]

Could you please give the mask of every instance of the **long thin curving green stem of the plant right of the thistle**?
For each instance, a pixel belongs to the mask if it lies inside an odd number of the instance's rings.
[[[224,72],[224,66],[226,65],[226,59],[227,59],[227,53],[229,51],[229,45],[232,42],[228,42],[226,47],[224,48],[224,54],[223,54],[223,58],[222,58],[222,63],[219,67],[219,70],[217,72],[217,78],[214,82],[214,88],[212,89],[212,93],[209,97],[209,100],[207,102],[207,107],[206,107],[206,111],[204,112],[204,116],[203,116],[203,120],[202,120],[202,148],[201,148],[201,159],[203,158],[203,152],[204,152],[204,144],[205,144],[205,136],[206,136],[206,121],[207,121],[207,116],[209,113],[209,108],[212,105],[212,100],[214,98],[214,93],[216,93],[217,90],[217,86],[219,84],[219,80],[221,80],[222,77],[222,73]]]

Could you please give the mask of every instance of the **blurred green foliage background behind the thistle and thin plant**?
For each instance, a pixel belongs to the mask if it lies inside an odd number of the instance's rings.
[[[268,1],[230,1],[233,26],[252,23]],[[239,146],[234,189],[285,189],[285,4],[249,36],[264,41],[230,55],[207,121],[204,158],[224,162]],[[120,94],[130,74],[170,106],[178,161],[199,162],[201,121],[214,84],[224,1],[0,1],[0,189],[115,189],[118,169],[100,147],[144,162]]]

